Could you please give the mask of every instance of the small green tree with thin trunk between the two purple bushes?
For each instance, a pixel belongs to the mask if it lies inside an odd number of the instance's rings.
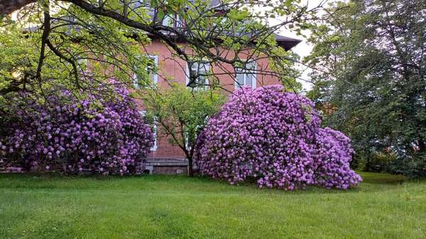
[[[170,84],[168,89],[151,89],[143,94],[146,111],[158,124],[158,134],[178,145],[188,160],[190,176],[195,143],[209,118],[224,103],[224,94],[215,89],[197,89]]]

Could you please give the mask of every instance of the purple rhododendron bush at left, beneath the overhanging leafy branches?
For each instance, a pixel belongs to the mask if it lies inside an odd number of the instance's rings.
[[[114,100],[95,95],[77,100],[62,91],[46,104],[21,95],[0,121],[0,167],[140,174],[153,134],[129,92],[114,93]]]

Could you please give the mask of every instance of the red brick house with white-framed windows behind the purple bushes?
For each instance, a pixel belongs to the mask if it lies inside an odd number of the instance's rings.
[[[299,43],[299,40],[286,38],[281,35],[276,35],[276,40],[285,50],[290,50],[290,48]],[[158,84],[158,87],[167,87],[166,79],[168,81],[171,79],[171,81],[180,84],[187,84],[187,71],[189,70],[187,69],[187,63],[178,57],[173,57],[172,52],[160,40],[153,39],[150,45],[144,46],[144,50],[146,50],[149,57],[153,59],[153,62],[158,67],[158,73],[151,74],[151,79],[155,84]],[[268,70],[268,60],[266,58],[254,60],[252,64],[257,70]],[[213,72],[223,70],[222,68],[215,69],[215,66],[210,65],[199,67],[205,69],[212,67],[211,70]],[[228,91],[234,91],[240,85],[249,85],[256,88],[269,84],[280,84],[276,77],[268,74],[251,74],[251,72],[239,71],[238,69],[234,70],[231,65],[226,67],[229,68],[226,69],[229,72],[238,73],[238,77],[230,74],[219,75],[220,84]],[[156,126],[154,127],[156,128]],[[184,173],[187,170],[187,161],[178,146],[171,145],[168,138],[155,135],[155,145],[148,154],[146,167],[153,173]]]

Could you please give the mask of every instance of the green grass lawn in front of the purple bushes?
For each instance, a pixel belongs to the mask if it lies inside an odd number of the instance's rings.
[[[426,182],[349,191],[183,176],[0,174],[0,238],[426,238]]]

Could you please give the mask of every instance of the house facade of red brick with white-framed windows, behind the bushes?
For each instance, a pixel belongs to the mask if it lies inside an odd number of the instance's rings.
[[[191,1],[189,1],[191,2]],[[225,13],[226,9],[221,0],[209,0],[209,5],[212,6],[215,13],[220,16]],[[147,10],[152,19],[157,19],[157,10],[151,8],[149,1],[133,1],[134,9],[144,8]],[[162,19],[157,19],[163,26],[170,28],[182,28],[185,26],[178,14],[174,16],[163,16]],[[249,33],[250,34],[250,33]],[[185,48],[185,42],[173,38],[169,35],[170,40],[176,41],[182,48]],[[190,71],[197,72],[198,84],[209,84],[208,77],[200,76],[203,71],[213,74],[220,87],[224,89],[225,94],[239,89],[243,86],[252,88],[262,87],[270,84],[280,84],[280,80],[271,74],[273,72],[269,67],[269,60],[267,56],[254,56],[250,51],[240,53],[239,59],[249,60],[244,69],[235,68],[233,65],[221,64],[210,65],[208,62],[193,62],[191,67],[188,67],[187,62],[180,57],[174,55],[174,51],[168,48],[168,45],[162,43],[160,40],[151,37],[151,44],[141,46],[141,52],[144,52],[151,58],[157,72],[151,72],[151,81],[157,87],[168,87],[170,82],[177,82],[178,84],[188,85]],[[295,45],[300,43],[300,40],[288,38],[283,35],[275,34],[277,44],[284,50],[290,50]],[[190,51],[190,49],[188,49]],[[234,57],[233,52],[226,48],[215,49],[223,52],[220,55],[226,59]],[[186,50],[185,50],[186,52]],[[149,69],[148,69],[149,70]],[[202,74],[201,74],[202,75]],[[137,79],[136,79],[137,82]],[[137,85],[135,86],[138,87]],[[143,113],[143,103],[141,102],[141,113]],[[187,160],[185,154],[177,146],[170,143],[170,140],[161,134],[161,129],[153,125],[155,132],[155,143],[151,152],[148,153],[146,158],[146,169],[150,173],[168,173],[180,174],[187,172]]]

